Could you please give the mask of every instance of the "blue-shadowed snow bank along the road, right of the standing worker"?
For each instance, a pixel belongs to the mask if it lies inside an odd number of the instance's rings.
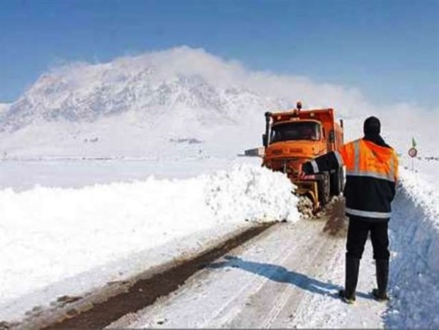
[[[401,187],[390,221],[389,286],[394,299],[384,319],[397,329],[435,329],[439,326],[438,189],[423,175],[400,171]]]

